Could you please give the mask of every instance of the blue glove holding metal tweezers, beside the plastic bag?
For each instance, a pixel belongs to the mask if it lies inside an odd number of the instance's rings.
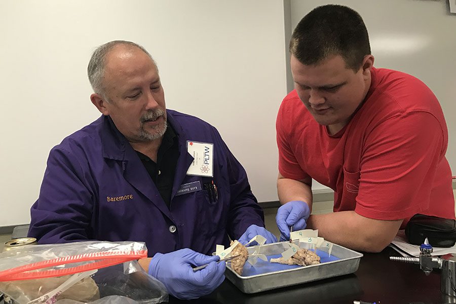
[[[170,253],[156,253],[149,264],[149,275],[165,285],[168,292],[180,299],[196,299],[214,291],[225,279],[225,262],[219,256],[208,256],[180,249]],[[192,265],[206,268],[194,272]]]

